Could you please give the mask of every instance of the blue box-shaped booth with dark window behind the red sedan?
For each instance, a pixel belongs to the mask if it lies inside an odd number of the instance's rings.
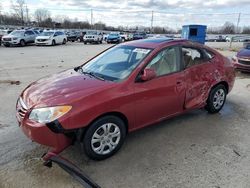
[[[184,25],[182,26],[182,38],[204,44],[206,30],[206,25]]]

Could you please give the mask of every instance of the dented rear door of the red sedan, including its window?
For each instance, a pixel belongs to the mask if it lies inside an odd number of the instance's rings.
[[[192,109],[206,103],[216,66],[212,54],[209,56],[205,49],[199,47],[183,46],[182,55],[187,86],[185,108]]]

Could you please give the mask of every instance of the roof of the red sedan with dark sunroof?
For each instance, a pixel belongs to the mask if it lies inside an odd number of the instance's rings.
[[[184,42],[187,41],[185,39],[172,39],[172,38],[152,38],[152,39],[141,39],[141,40],[134,40],[131,42],[123,43],[122,45],[130,45],[136,46],[141,48],[157,48],[161,45],[165,45],[167,43],[172,42]]]

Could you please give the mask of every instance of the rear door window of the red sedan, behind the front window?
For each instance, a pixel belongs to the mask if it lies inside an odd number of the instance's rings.
[[[207,62],[207,57],[198,48],[182,47],[182,56],[185,68]]]

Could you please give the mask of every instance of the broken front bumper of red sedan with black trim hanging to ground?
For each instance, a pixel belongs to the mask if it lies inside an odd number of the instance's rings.
[[[74,141],[74,131],[66,131],[63,129],[59,121],[53,121],[48,124],[41,124],[28,118],[30,110],[27,108],[21,98],[16,105],[17,121],[24,134],[41,145],[50,147],[51,149],[42,156],[44,165],[52,166],[52,162],[58,164],[62,169],[72,175],[84,187],[99,188],[100,186],[91,180],[85,173],[76,167],[73,163],[59,156],[59,154],[70,146]]]

